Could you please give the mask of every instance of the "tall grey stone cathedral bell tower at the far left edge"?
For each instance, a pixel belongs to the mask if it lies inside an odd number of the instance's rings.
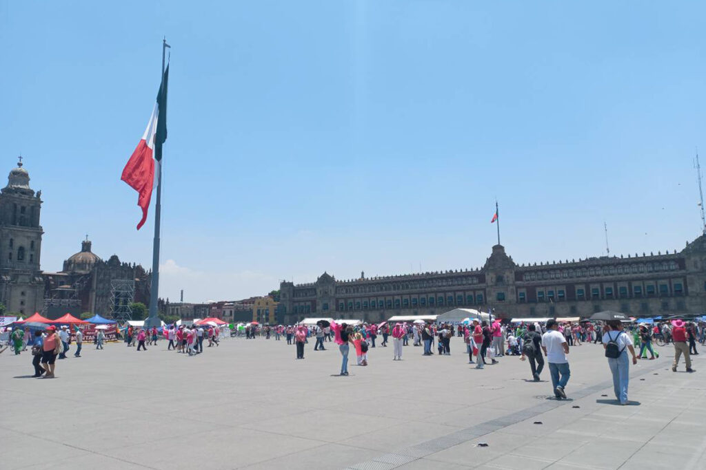
[[[29,316],[42,311],[42,192],[30,188],[22,157],[0,190],[0,302],[8,314]]]

